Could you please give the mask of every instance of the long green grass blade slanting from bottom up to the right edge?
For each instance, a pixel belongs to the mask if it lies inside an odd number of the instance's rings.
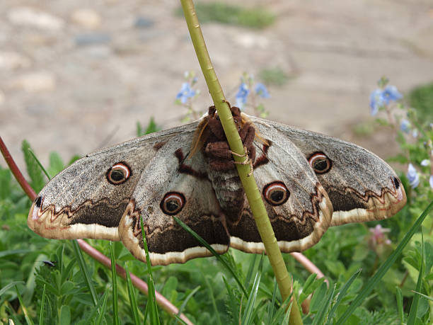
[[[388,257],[388,259],[385,261],[385,263],[382,264],[382,266],[377,270],[376,274],[374,274],[373,278],[369,280],[369,282],[366,284],[364,289],[362,289],[361,292],[357,295],[357,297],[353,300],[352,304],[350,304],[350,307],[348,307],[345,312],[342,314],[340,319],[337,320],[336,325],[344,324],[345,321],[350,317],[350,315],[354,312],[357,307],[364,301],[367,295],[373,290],[373,288],[377,285],[379,280],[383,278],[383,275],[391,268],[393,263],[396,261],[398,256],[400,256],[400,253],[403,251],[405,246],[408,244],[412,236],[415,234],[416,230],[421,226],[422,222],[424,221],[425,217],[429,214],[429,212],[433,208],[433,201],[430,202],[430,204],[427,206],[427,208],[422,212],[420,217],[415,221],[415,223],[410,227],[406,235],[403,237],[403,239],[400,241],[400,244],[398,244],[397,248],[391,255]]]

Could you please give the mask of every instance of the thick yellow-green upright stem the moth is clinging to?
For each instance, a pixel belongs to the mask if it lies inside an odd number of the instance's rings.
[[[221,120],[221,125],[226,134],[230,149],[238,154],[245,154],[241,137],[239,137],[238,130],[236,129],[236,125],[233,122],[229,105],[225,101],[226,98],[222,91],[221,85],[219,84],[214,67],[212,66],[209,53],[207,52],[202,30],[197,19],[197,14],[195,13],[194,4],[192,3],[192,0],[180,0],[180,2],[182,4],[188,30],[191,35],[192,44],[194,45],[194,49],[200,63],[200,68],[202,69],[207,88],[209,89],[209,93],[212,97],[212,101],[214,101],[215,108],[217,108],[219,119]],[[243,157],[238,156],[233,156],[233,158],[235,161],[240,162],[244,160]],[[279,251],[277,239],[275,238],[269,217],[267,217],[265,205],[262,201],[257,183],[255,183],[254,176],[248,176],[248,173],[250,173],[250,166],[236,164],[236,167],[238,169],[238,174],[241,178],[248,203],[250,204],[251,212],[253,212],[255,223],[257,224],[263,245],[265,246],[267,256],[269,257],[270,264],[274,270],[279,292],[282,295],[282,300],[286,300],[291,292],[291,278],[289,277],[289,273],[287,272],[287,268],[284,264],[282,253]],[[296,301],[294,302],[295,303],[291,308],[289,324],[302,324],[298,304]]]

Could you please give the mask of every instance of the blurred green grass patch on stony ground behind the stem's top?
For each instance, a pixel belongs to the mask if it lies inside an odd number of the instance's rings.
[[[197,2],[195,11],[200,23],[223,23],[226,25],[237,25],[246,28],[262,29],[275,22],[275,15],[263,7],[249,8],[213,1]],[[182,8],[176,10],[177,16],[183,16]]]

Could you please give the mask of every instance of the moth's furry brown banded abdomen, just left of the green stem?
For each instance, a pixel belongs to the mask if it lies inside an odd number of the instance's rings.
[[[209,169],[208,176],[221,210],[229,219],[238,219],[238,214],[243,209],[245,195],[236,169],[229,169],[228,171]]]

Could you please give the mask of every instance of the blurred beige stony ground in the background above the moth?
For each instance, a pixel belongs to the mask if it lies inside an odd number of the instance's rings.
[[[209,2],[209,1],[206,1]],[[231,1],[234,4],[235,1]],[[358,139],[369,93],[383,75],[404,93],[433,81],[431,0],[238,1],[275,15],[263,29],[203,23],[212,62],[232,103],[243,72],[278,69],[262,101],[268,118],[357,142],[386,157],[388,132]],[[154,116],[180,125],[183,73],[195,70],[211,105],[179,1],[1,0],[0,135],[23,167],[28,139],[42,164],[130,139]],[[200,18],[200,17],[199,17]],[[5,166],[0,159],[1,166]]]

